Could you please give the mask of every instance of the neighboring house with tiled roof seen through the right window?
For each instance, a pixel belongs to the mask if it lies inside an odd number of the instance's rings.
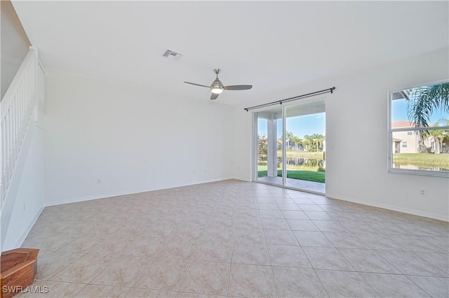
[[[415,123],[406,120],[398,120],[391,123],[391,128],[414,127]],[[394,153],[420,153],[434,152],[435,140],[433,136],[428,136],[424,141],[420,141],[420,136],[413,131],[393,132],[392,146]],[[448,137],[443,140],[443,150],[445,152],[449,145]]]

